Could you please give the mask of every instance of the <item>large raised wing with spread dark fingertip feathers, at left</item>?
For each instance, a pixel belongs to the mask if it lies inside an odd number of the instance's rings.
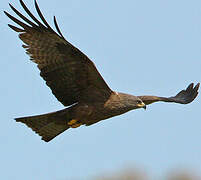
[[[112,92],[111,89],[93,62],[64,39],[56,18],[54,17],[54,24],[58,33],[46,22],[36,0],[35,7],[43,23],[36,19],[22,0],[20,4],[33,22],[9,4],[11,9],[25,21],[23,23],[5,12],[11,20],[21,26],[18,28],[9,24],[9,27],[20,33],[19,37],[25,43],[23,47],[31,60],[38,64],[40,75],[56,98],[65,106],[83,101],[84,98],[87,100],[87,96],[96,97],[96,94],[101,95],[102,100],[107,99]]]

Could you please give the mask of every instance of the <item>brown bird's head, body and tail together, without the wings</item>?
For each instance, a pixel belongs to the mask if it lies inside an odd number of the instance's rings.
[[[89,126],[130,110],[146,107],[140,99],[137,101],[136,99],[138,98],[129,94],[113,92],[105,102],[76,103],[60,111],[17,118],[16,121],[25,123],[42,136],[43,140],[50,141],[68,128],[77,128],[81,125]],[[139,107],[136,106],[136,102],[139,103]]]

